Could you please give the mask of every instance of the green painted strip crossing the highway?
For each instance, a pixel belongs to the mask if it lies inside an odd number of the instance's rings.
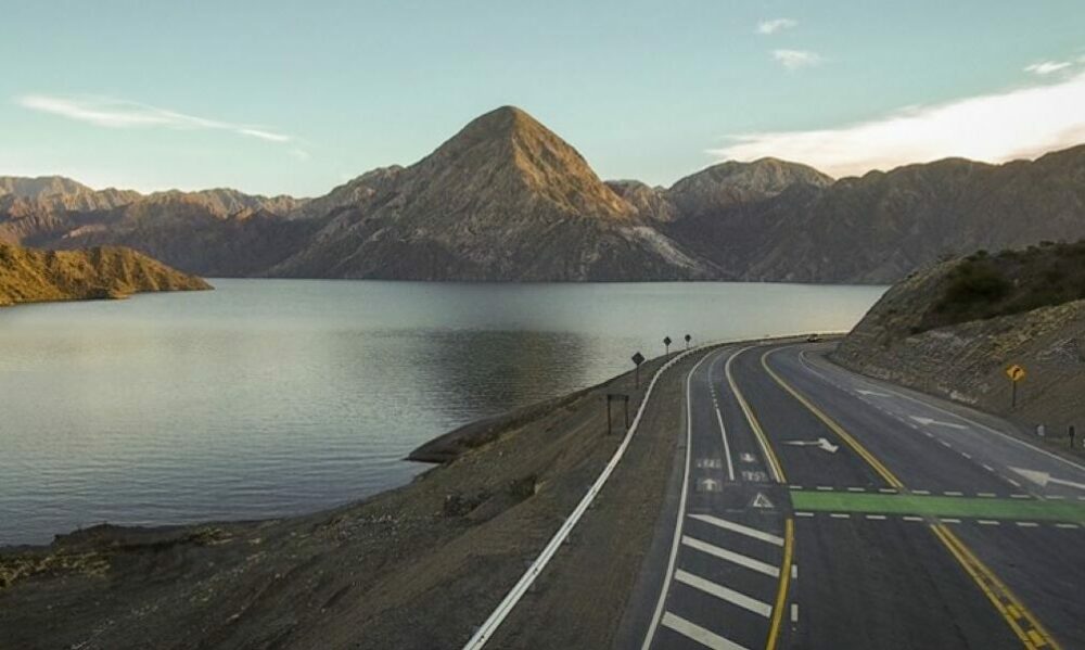
[[[796,490],[790,494],[795,510],[1085,523],[1085,504],[1075,501]]]

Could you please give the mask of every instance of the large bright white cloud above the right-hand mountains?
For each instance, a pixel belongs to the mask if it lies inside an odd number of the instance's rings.
[[[1085,73],[1047,85],[897,111],[833,129],[732,136],[709,153],[776,156],[837,177],[949,156],[1000,163],[1085,142]]]

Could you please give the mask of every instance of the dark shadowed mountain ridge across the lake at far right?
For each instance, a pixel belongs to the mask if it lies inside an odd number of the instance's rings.
[[[889,283],[980,248],[1085,237],[1085,146],[1035,162],[946,160],[872,171],[713,218],[742,233],[742,245],[728,248],[742,279]],[[672,234],[685,242],[697,231]]]

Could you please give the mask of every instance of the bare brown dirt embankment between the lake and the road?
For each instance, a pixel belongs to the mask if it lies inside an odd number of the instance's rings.
[[[691,362],[656,386],[661,399],[651,400],[628,450],[638,467],[649,468],[654,453],[669,461],[681,421],[676,395]],[[454,436],[463,445],[445,464],[339,509],[175,528],[98,526],[48,547],[0,549],[0,647],[460,647],[620,444],[616,406],[614,432],[605,432],[605,394],[630,394],[631,416],[660,365],[642,367],[640,390],[628,373],[490,420],[470,442]],[[589,518],[586,530],[609,527],[612,552],[582,566],[605,576],[610,599],[590,589],[570,599],[573,590],[548,588],[547,574],[529,595],[571,622],[556,635],[588,629],[605,645],[660,511],[653,499],[663,498],[666,472],[656,473],[658,481],[615,474],[644,484],[630,493],[638,502],[626,511],[624,499],[604,494]],[[536,629],[511,647],[561,647],[548,638]]]

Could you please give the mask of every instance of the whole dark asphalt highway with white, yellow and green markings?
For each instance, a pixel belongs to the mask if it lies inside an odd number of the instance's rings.
[[[1085,648],[1085,468],[847,372],[728,347],[687,379],[623,648]]]

